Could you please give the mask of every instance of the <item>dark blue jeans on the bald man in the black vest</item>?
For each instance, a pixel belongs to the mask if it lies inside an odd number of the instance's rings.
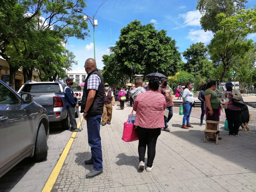
[[[99,171],[102,166],[102,151],[100,138],[101,115],[87,115],[88,144],[91,147],[93,169]]]

